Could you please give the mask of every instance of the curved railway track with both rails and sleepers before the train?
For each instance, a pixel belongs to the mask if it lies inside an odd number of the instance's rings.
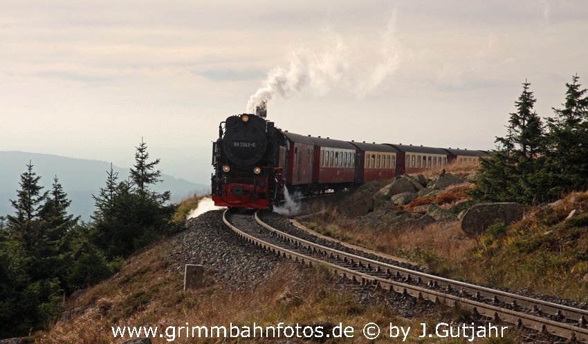
[[[336,274],[362,285],[449,306],[468,307],[475,315],[588,343],[586,309],[433,276],[324,247],[274,229],[257,212],[227,210],[223,222],[254,245],[305,264],[327,265]]]

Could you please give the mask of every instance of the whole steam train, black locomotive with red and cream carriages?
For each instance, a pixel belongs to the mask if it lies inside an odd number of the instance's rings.
[[[342,191],[448,164],[478,164],[488,151],[333,140],[289,133],[256,113],[232,115],[212,143],[211,193],[219,207],[267,209],[284,190],[311,195]]]

